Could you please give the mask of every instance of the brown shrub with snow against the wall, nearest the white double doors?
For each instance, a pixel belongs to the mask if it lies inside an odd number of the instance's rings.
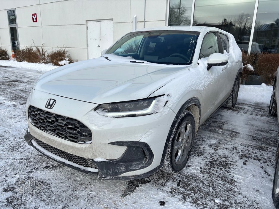
[[[76,62],[77,60],[73,60],[71,56],[68,54],[69,50],[66,50],[66,48],[58,48],[57,50],[52,50],[48,52],[47,58],[52,63],[53,65],[56,66],[62,66],[59,62],[66,60],[68,61],[67,63],[73,63]]]

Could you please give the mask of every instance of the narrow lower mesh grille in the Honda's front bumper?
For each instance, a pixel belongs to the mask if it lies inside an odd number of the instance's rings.
[[[62,151],[60,149],[57,149],[53,146],[50,146],[42,141],[40,141],[37,138],[33,138],[33,140],[42,148],[46,149],[47,151],[51,152],[52,154],[55,154],[59,157],[62,157],[63,159],[69,160],[73,163],[76,163],[78,165],[84,166],[84,167],[90,167],[90,168],[96,168],[95,163],[93,162],[93,159],[79,157],[74,154],[70,154],[68,152]]]

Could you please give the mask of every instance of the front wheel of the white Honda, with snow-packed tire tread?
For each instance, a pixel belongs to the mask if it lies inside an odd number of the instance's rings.
[[[183,137],[181,136],[181,133],[183,131],[181,130],[183,130],[184,124],[184,136],[186,137],[182,139]],[[177,173],[185,167],[194,145],[195,129],[195,119],[193,114],[190,111],[185,110],[178,118],[174,129],[170,131],[171,137],[167,147],[164,164],[161,168],[162,170],[168,173]],[[178,144],[181,144],[180,149],[177,147],[175,148]]]

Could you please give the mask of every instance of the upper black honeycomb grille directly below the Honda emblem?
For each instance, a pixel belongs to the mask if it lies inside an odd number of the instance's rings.
[[[90,143],[91,130],[82,122],[44,111],[34,106],[28,108],[29,121],[42,131],[77,143]]]

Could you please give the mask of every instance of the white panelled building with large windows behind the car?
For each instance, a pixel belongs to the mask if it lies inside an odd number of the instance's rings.
[[[133,28],[204,25],[232,33],[243,51],[279,53],[278,8],[279,0],[1,0],[0,47],[66,47],[85,60]]]

